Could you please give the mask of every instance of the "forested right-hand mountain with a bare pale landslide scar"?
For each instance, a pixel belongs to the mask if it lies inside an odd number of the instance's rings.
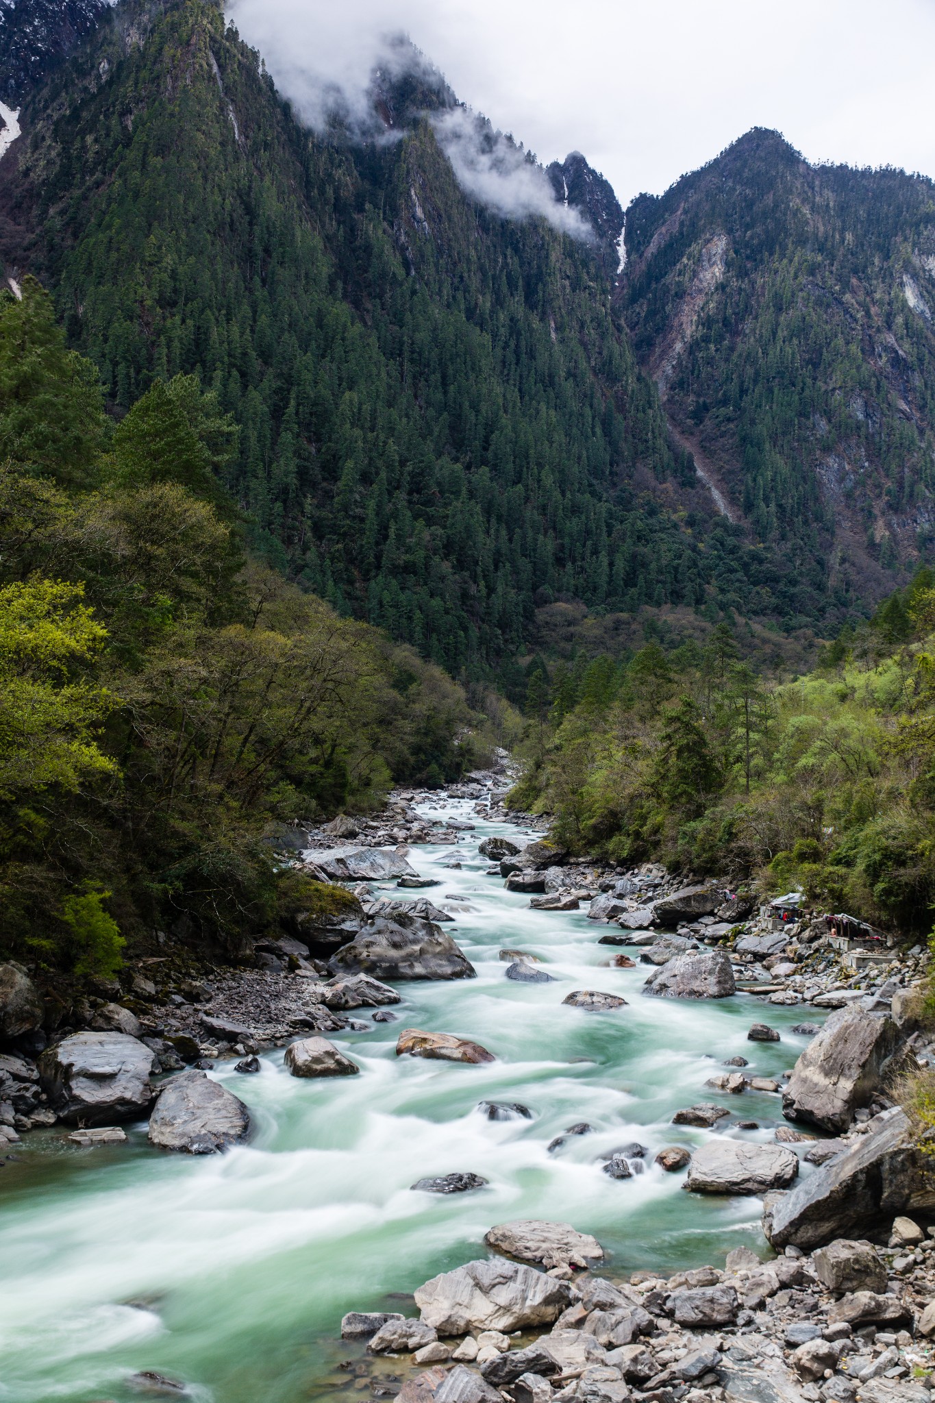
[[[935,185],[754,129],[627,210],[615,307],[746,539],[859,607],[935,546]]]

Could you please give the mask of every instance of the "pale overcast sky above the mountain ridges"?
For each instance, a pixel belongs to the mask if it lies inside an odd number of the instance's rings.
[[[809,160],[935,177],[935,0],[231,0],[289,93],[353,86],[405,29],[541,161],[580,150],[621,202],[750,126]],[[293,94],[294,95],[294,94]]]

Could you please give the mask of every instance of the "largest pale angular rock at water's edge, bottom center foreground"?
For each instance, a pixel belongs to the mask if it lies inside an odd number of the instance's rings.
[[[442,1336],[551,1324],[571,1299],[566,1282],[505,1258],[468,1261],[415,1292],[422,1319]]]

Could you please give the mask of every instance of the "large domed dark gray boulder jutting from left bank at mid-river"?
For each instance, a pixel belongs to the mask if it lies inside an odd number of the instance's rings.
[[[376,979],[474,979],[477,969],[440,926],[398,912],[342,946],[329,961],[335,975],[370,974]]]

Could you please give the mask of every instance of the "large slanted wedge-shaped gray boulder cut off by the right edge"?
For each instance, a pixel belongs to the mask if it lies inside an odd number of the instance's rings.
[[[772,1204],[763,1230],[774,1247],[810,1250],[897,1214],[935,1211],[931,1155],[914,1143],[906,1111],[893,1107],[866,1135]]]

